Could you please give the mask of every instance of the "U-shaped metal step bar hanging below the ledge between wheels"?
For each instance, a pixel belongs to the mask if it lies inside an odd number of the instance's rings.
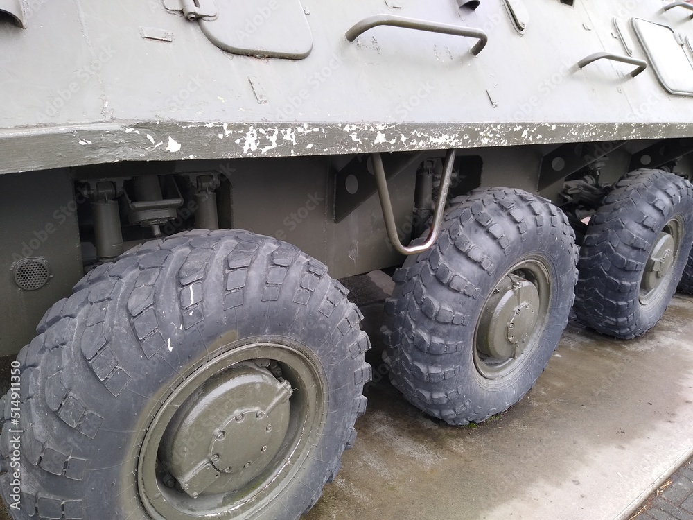
[[[433,225],[428,232],[428,238],[425,242],[419,245],[405,247],[399,240],[397,233],[397,225],[394,221],[394,213],[392,212],[392,202],[387,189],[387,177],[385,177],[385,166],[383,166],[383,157],[380,153],[374,153],[373,170],[376,174],[376,183],[378,184],[378,197],[380,198],[380,208],[383,209],[383,218],[385,218],[385,229],[387,236],[392,243],[392,246],[401,254],[416,254],[424,252],[435,243],[440,234],[440,227],[443,224],[443,214],[445,211],[445,202],[448,198],[448,190],[450,189],[450,179],[453,176],[453,164],[455,163],[455,150],[448,150],[448,155],[445,157],[444,173],[440,181],[440,191],[438,194],[438,202],[435,206],[433,214]]]

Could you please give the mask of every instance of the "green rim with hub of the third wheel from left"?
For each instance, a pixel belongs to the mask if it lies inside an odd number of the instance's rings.
[[[658,234],[640,280],[640,304],[649,306],[667,293],[674,263],[681,250],[683,223],[672,218]]]

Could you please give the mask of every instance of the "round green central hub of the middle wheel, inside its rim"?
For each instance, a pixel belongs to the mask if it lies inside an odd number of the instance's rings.
[[[532,282],[507,275],[495,287],[482,313],[477,347],[492,358],[518,358],[536,329],[539,293]]]

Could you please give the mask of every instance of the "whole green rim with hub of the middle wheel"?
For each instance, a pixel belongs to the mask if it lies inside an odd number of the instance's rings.
[[[552,293],[544,259],[505,272],[486,298],[474,333],[474,363],[486,379],[500,379],[532,358],[547,323]]]

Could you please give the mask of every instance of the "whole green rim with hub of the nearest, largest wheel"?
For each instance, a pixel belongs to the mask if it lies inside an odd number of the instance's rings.
[[[139,496],[152,517],[235,519],[272,501],[322,433],[321,373],[301,345],[252,343],[184,379],[140,450]]]

